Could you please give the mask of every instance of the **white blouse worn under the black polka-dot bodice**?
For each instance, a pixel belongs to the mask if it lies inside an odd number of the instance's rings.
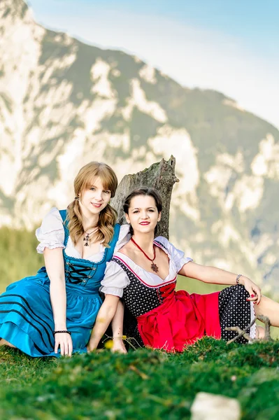
[[[120,258],[124,264],[128,265],[134,273],[149,286],[160,286],[164,283],[168,283],[171,280],[176,279],[178,272],[187,264],[187,262],[192,261],[192,258],[186,258],[184,252],[177,249],[168,239],[164,237],[157,237],[155,239],[166,248],[162,248],[163,251],[169,256],[169,274],[166,276],[166,279],[161,279],[157,274],[147,272],[145,269],[137,265],[131,258],[127,255],[124,255],[121,252],[115,250],[114,255],[117,258]],[[106,263],[106,271],[103,280],[101,281],[101,292],[108,295],[115,295],[122,297],[123,289],[127,287],[130,283],[129,277],[124,269],[120,267],[119,264],[115,261],[109,261]]]

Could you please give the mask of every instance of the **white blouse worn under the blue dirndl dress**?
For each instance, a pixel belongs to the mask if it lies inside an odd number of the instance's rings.
[[[50,212],[43,218],[41,228],[36,230],[36,237],[40,244],[37,246],[38,253],[43,253],[45,248],[65,248],[64,246],[64,227],[63,220],[56,207],[52,207]],[[131,235],[129,234],[129,225],[120,226],[118,241],[115,244],[115,251],[118,251],[124,244],[129,242]],[[99,262],[103,259],[105,247],[100,244],[99,251],[87,257],[87,260]],[[73,246],[73,241],[69,237],[65,248],[66,255],[73,258],[82,258],[80,253]]]

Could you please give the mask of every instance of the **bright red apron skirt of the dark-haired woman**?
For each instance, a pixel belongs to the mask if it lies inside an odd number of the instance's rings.
[[[163,304],[137,317],[138,331],[145,346],[166,351],[183,351],[203,335],[221,337],[218,296],[171,293]]]

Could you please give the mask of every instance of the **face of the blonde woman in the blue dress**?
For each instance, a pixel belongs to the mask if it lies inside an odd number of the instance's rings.
[[[85,217],[99,214],[108,204],[111,197],[111,191],[103,188],[103,183],[99,176],[94,180],[87,190],[80,194],[80,210]]]

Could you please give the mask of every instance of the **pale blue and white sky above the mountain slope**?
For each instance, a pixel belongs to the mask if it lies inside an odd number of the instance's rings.
[[[30,0],[50,29],[219,90],[279,127],[279,0]]]

